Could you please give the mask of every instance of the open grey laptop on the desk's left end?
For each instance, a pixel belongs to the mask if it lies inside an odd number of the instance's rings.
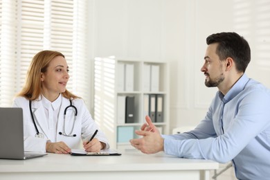
[[[32,159],[46,153],[24,152],[24,118],[20,107],[0,107],[0,159]]]

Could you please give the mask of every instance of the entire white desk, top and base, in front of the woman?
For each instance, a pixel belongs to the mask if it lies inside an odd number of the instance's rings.
[[[121,151],[119,151],[121,152]],[[0,179],[210,179],[214,161],[125,150],[121,156],[48,154],[28,160],[0,159]]]

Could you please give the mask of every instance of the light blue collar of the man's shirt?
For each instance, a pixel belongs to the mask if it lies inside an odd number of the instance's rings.
[[[222,94],[222,92],[219,91],[219,98],[224,103],[232,100],[233,98],[235,98],[235,96],[237,96],[237,94],[243,91],[244,87],[246,87],[247,82],[249,82],[249,78],[244,73],[242,77],[239,80],[237,80],[237,82],[235,82],[233,87],[228,91],[228,93],[226,93],[225,96]]]

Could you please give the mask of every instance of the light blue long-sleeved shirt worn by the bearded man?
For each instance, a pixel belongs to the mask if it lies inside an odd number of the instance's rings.
[[[270,91],[244,74],[226,96],[216,93],[194,130],[163,138],[166,154],[232,161],[237,179],[269,179]]]

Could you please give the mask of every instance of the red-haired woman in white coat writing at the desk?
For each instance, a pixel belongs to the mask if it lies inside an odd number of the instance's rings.
[[[68,81],[69,66],[62,53],[41,51],[33,57],[26,84],[13,102],[24,112],[26,151],[69,154],[71,148],[80,148],[81,138],[87,152],[109,148],[84,101],[66,90]]]

